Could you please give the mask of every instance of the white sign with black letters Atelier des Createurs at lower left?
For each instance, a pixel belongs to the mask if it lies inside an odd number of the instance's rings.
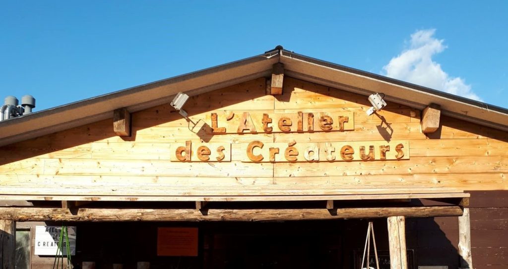
[[[35,227],[35,255],[55,256],[60,238],[61,226],[36,226]],[[76,254],[76,226],[68,226],[69,247],[71,255]],[[63,256],[67,255],[67,245],[65,238],[62,242]],[[60,255],[60,253],[59,253]]]

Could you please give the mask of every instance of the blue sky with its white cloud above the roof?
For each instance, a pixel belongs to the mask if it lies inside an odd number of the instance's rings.
[[[37,111],[278,44],[508,108],[506,1],[0,4],[0,97]]]

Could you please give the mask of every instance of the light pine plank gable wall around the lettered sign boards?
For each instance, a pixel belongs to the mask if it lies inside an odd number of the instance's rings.
[[[340,194],[350,188],[450,187],[506,190],[508,133],[442,116],[435,133],[420,131],[421,111],[390,103],[367,116],[365,96],[284,78],[281,96],[259,78],[192,97],[194,121],[211,112],[353,111],[344,132],[194,133],[169,105],[132,114],[132,136],[112,119],[0,148],[0,193],[82,195]],[[211,123],[207,123],[211,124]],[[390,128],[387,128],[387,126]],[[410,160],[320,163],[170,162],[170,145],[211,143],[408,140]],[[37,188],[30,188],[37,186]]]

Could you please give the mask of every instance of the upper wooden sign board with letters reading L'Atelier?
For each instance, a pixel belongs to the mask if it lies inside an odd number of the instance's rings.
[[[294,112],[294,113],[210,113],[206,121],[209,132],[233,133],[293,133],[352,131],[355,129],[353,111]],[[305,124],[304,124],[305,123]]]

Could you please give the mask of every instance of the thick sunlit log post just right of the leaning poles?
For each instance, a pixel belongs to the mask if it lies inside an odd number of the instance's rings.
[[[407,269],[405,230],[405,217],[388,217],[391,269]]]

